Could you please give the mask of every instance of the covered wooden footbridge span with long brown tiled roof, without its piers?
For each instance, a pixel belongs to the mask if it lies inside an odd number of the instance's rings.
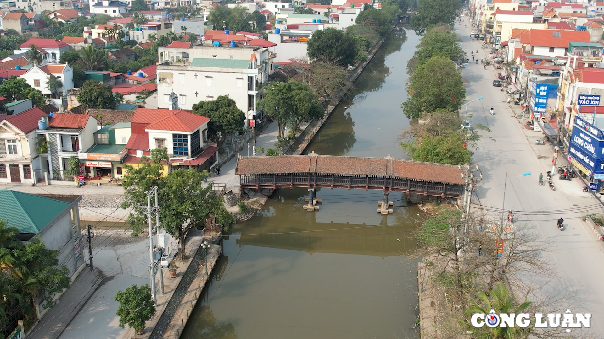
[[[239,157],[242,188],[331,187],[389,189],[458,197],[465,180],[458,166],[371,157]]]

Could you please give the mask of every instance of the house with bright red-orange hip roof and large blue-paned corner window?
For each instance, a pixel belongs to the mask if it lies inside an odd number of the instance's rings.
[[[124,163],[138,166],[143,154],[165,147],[169,163],[164,173],[172,168],[211,170],[218,149],[208,145],[208,121],[184,110],[139,108],[132,117],[132,135],[126,145],[129,156]]]

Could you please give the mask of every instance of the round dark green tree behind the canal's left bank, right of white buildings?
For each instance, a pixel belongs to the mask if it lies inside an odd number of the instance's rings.
[[[308,40],[307,53],[311,60],[347,66],[355,60],[356,40],[336,28],[315,31]]]

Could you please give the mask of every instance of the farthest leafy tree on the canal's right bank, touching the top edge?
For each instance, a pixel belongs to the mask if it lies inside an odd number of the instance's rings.
[[[417,13],[411,14],[411,28],[422,34],[432,25],[445,24],[455,20],[461,7],[458,0],[422,0],[417,6]]]

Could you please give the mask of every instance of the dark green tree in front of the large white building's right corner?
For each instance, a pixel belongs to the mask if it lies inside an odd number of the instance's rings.
[[[210,118],[208,136],[216,140],[219,148],[222,147],[227,133],[237,133],[245,126],[245,113],[226,95],[220,95],[216,100],[199,101],[193,104],[192,109],[193,113]]]

